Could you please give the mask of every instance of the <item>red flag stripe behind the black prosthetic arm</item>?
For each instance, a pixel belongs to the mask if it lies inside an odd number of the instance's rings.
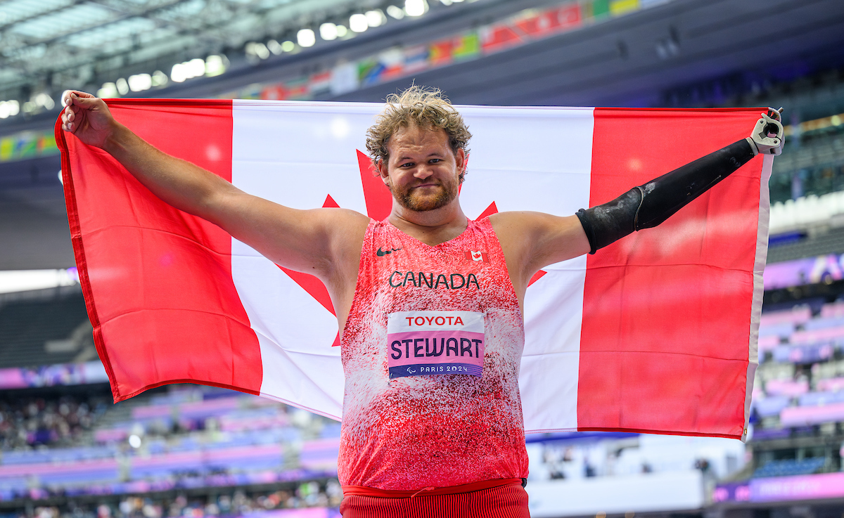
[[[746,137],[759,112],[596,109],[590,205]],[[588,256],[579,429],[741,436],[761,167]]]

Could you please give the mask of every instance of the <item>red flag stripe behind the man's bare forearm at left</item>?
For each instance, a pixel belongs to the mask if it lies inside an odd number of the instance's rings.
[[[231,181],[230,100],[109,107],[155,147]],[[152,196],[59,121],[56,139],[80,281],[115,401],[175,381],[257,394],[261,351],[231,278],[230,235]]]

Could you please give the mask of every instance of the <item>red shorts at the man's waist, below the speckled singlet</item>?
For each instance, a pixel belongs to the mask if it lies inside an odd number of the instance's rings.
[[[482,488],[472,490],[473,486]],[[461,488],[468,491],[455,491]],[[530,518],[527,492],[517,478],[417,492],[344,486],[343,493],[343,518]]]

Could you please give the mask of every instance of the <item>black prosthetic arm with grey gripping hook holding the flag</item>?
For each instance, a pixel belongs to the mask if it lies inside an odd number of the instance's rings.
[[[781,154],[781,112],[782,108],[771,108],[763,113],[748,138],[696,159],[645,185],[633,187],[612,202],[577,211],[577,218],[589,239],[589,253],[593,254],[635,230],[650,229],[663,223],[757,154]]]

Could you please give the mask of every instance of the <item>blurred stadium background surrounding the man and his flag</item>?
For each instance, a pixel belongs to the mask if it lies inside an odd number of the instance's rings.
[[[534,516],[844,516],[841,0],[0,0],[0,518],[322,518],[342,498],[325,418],[201,386],[112,404],[62,90],[380,101],[413,81],[457,104],[786,108],[748,443],[532,435],[527,491]]]

